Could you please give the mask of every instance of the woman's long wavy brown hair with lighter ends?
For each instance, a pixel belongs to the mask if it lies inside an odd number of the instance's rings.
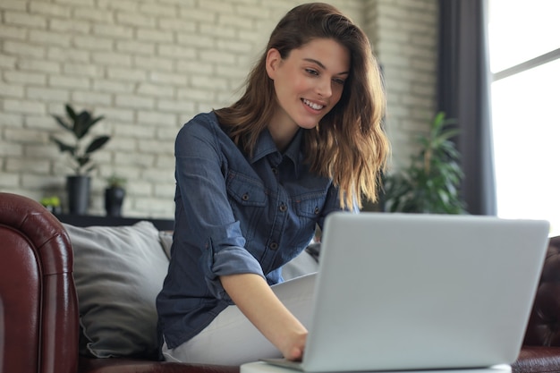
[[[286,13],[250,72],[243,96],[215,113],[230,128],[233,141],[251,154],[278,105],[265,67],[267,51],[276,48],[285,59],[293,49],[318,38],[333,39],[348,48],[351,68],[339,102],[318,126],[303,130],[303,151],[311,171],[331,178],[339,188],[342,208],[354,204],[361,208],[362,198],[378,199],[380,173],[389,154],[382,127],[386,97],[369,39],[334,6],[302,4]]]

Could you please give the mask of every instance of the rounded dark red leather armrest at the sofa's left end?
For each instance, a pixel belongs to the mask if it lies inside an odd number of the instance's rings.
[[[78,301],[72,245],[38,202],[0,192],[0,371],[74,373]]]

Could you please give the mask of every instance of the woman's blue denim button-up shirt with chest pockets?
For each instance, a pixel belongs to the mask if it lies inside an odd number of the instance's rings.
[[[175,141],[175,225],[169,270],[157,296],[169,348],[191,339],[233,304],[219,276],[283,281],[281,267],[339,210],[338,191],[302,162],[300,130],[280,153],[262,131],[243,154],[214,113],[199,114]]]

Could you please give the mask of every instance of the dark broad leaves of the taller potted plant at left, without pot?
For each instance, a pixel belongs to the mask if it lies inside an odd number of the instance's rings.
[[[92,153],[102,148],[110,140],[110,137],[106,135],[94,137],[87,145],[83,142],[86,140],[89,130],[104,117],[103,115],[94,117],[87,110],[76,113],[72,106],[68,104],[66,104],[65,108],[67,118],[55,114],[52,116],[55,118],[56,123],[72,134],[73,142],[67,143],[55,136],[50,136],[50,140],[58,145],[62,153],[68,152],[70,154],[74,174],[89,174],[96,167],[91,160]]]

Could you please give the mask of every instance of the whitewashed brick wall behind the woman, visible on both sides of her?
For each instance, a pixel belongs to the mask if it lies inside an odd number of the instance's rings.
[[[105,178],[128,179],[126,216],[173,217],[174,136],[237,97],[298,0],[0,1],[0,191],[59,195],[70,169],[50,134],[64,104],[106,119],[89,212]],[[386,75],[387,131],[406,159],[435,107],[437,0],[333,0],[369,34]]]

